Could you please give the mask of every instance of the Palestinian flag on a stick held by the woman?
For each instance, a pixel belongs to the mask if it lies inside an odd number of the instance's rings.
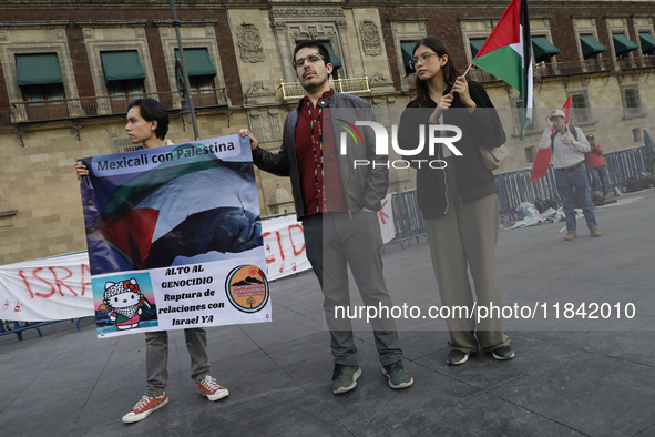
[[[525,112],[521,140],[532,120],[532,51],[528,0],[512,0],[471,62],[519,90]]]

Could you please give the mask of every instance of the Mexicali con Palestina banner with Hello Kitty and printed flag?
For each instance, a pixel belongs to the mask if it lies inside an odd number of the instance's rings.
[[[99,337],[270,322],[247,139],[82,161]]]

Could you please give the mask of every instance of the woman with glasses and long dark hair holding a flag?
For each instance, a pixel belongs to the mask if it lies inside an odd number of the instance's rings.
[[[451,309],[447,363],[464,364],[478,350],[478,344],[495,359],[511,359],[514,352],[503,334],[502,318],[494,313],[495,317],[481,319],[475,326],[477,313],[470,316],[475,307],[502,307],[494,258],[498,189],[479,146],[502,145],[503,128],[484,88],[461,75],[440,39],[428,37],[417,42],[411,67],[417,73],[417,98],[400,119],[400,148],[408,152],[419,148],[421,139],[428,143],[430,124],[454,125],[462,132],[461,140],[453,143],[456,150],[438,143],[430,155],[430,148],[423,144],[418,154],[403,156],[417,169],[417,196],[441,305]],[[452,130],[443,129],[441,136],[452,136]],[[473,277],[475,304],[467,266]],[[452,311],[462,306],[469,314]]]

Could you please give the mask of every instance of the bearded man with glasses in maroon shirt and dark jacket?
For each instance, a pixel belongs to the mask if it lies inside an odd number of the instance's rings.
[[[328,75],[332,64],[327,49],[318,41],[300,41],[294,50],[293,64],[305,89],[297,106],[285,121],[278,153],[257,146],[250,135],[253,161],[269,173],[290,176],[296,215],[303,221],[307,258],[324,293],[324,312],[331,337],[334,356],[332,392],[341,394],[357,385],[361,369],[350,319],[336,307],[348,307],[348,271],[367,307],[392,307],[382,274],[380,225],[376,211],[389,185],[387,156],[376,155],[372,135],[360,129],[364,144],[351,144],[346,154],[337,150],[332,122],[344,121],[345,113],[357,120],[375,120],[369,102],[335,92]],[[330,112],[331,110],[331,112]],[[373,166],[354,166],[368,160]],[[398,333],[392,319],[373,317],[375,342],[382,373],[392,388],[413,384],[411,372],[402,362]]]

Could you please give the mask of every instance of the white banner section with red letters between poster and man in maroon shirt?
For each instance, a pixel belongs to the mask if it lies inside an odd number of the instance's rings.
[[[311,268],[305,250],[305,232],[296,214],[262,221],[269,281]]]

